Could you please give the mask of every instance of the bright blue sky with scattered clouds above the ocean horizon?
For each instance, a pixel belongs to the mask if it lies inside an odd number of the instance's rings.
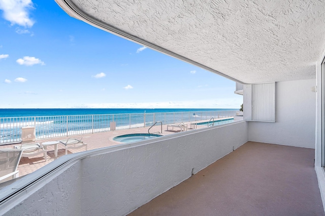
[[[240,108],[235,82],[66,14],[0,0],[0,108]]]

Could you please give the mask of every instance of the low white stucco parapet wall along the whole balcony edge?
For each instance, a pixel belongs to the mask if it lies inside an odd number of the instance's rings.
[[[19,188],[67,158],[81,158],[0,205],[0,214],[125,215],[247,141],[248,123],[240,121],[63,156],[7,190]]]

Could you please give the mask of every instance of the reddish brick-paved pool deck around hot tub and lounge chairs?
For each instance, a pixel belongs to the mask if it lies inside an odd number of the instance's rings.
[[[229,117],[228,117],[229,118]],[[230,117],[232,118],[232,117]],[[226,118],[218,118],[215,120],[220,120],[220,119],[226,119]],[[201,123],[201,122],[207,122],[209,120],[200,120],[196,121],[196,123]],[[188,131],[191,130],[190,128],[190,123],[191,122],[184,122],[187,123]],[[206,128],[207,125],[196,125],[195,129],[199,128]],[[94,133],[94,134],[82,134],[82,135],[74,135],[74,136],[69,136],[69,137],[55,137],[55,138],[48,138],[48,139],[39,139],[36,140],[38,143],[44,143],[48,141],[57,141],[57,140],[63,140],[67,138],[78,138],[82,137],[82,141],[87,144],[87,150],[92,150],[92,149],[99,149],[103,147],[109,147],[109,146],[115,146],[119,145],[121,143],[113,141],[114,137],[120,136],[120,135],[125,135],[125,134],[139,134],[139,133],[148,133],[148,127],[138,127],[138,128],[131,128],[131,129],[121,129],[117,131],[108,131],[108,132],[100,132],[100,133]],[[194,129],[194,128],[192,128]],[[154,134],[155,132],[160,132],[160,125],[155,125],[150,129],[150,133]],[[167,131],[167,125],[163,125],[163,133],[160,133],[160,135],[171,135],[175,133],[184,133],[180,132],[180,128],[174,128],[174,131]],[[0,148],[13,148],[13,146],[20,145],[20,143],[16,144],[6,144],[0,146]],[[79,149],[71,149],[68,150],[68,154],[76,153],[76,152],[82,152],[85,151],[85,148],[79,148]],[[54,155],[54,146],[47,146],[47,161],[44,160],[44,157],[42,154],[36,155],[34,157],[21,157],[19,165],[18,165],[18,170],[19,170],[19,176],[25,176],[27,174],[30,174],[31,172],[45,166],[46,164],[54,161],[58,157],[65,155],[66,149],[64,148],[64,145],[58,144],[58,152],[57,152],[57,157]]]

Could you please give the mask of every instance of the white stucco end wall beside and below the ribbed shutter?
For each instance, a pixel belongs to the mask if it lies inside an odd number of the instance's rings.
[[[249,141],[315,148],[315,85],[315,79],[276,82],[276,122],[249,122]]]

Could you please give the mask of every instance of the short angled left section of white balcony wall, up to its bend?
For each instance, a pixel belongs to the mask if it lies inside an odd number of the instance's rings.
[[[30,181],[38,179],[55,165],[65,162],[66,158],[69,159],[71,156],[58,158],[35,172],[24,176],[3,188],[0,194],[5,194],[8,190],[20,188]],[[80,172],[79,161],[69,166],[63,166],[16,194],[11,200],[2,203],[0,205],[0,215],[81,215]]]

